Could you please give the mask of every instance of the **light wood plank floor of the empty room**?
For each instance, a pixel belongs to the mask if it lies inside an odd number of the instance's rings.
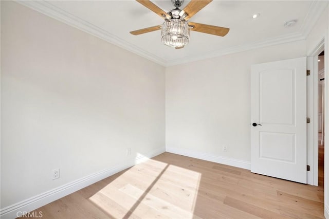
[[[43,218],[324,218],[321,186],[171,153],[35,211]]]

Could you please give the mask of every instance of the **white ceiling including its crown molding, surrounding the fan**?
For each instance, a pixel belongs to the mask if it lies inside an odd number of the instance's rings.
[[[133,0],[19,3],[164,66],[305,39],[328,4],[327,1],[215,0],[190,21],[228,27],[229,33],[220,37],[191,31],[190,43],[184,49],[174,49],[161,44],[160,31],[137,36],[129,33],[163,23],[161,17]],[[165,11],[174,8],[170,0],[153,3]],[[261,16],[253,20],[254,13]],[[297,20],[296,25],[285,28],[284,23],[290,20]]]

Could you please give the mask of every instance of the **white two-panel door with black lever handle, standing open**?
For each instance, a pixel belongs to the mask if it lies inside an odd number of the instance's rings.
[[[306,58],[251,66],[251,172],[306,184]]]

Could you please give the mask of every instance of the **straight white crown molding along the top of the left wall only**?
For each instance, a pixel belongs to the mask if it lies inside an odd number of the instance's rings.
[[[131,52],[137,54],[138,56],[151,60],[162,66],[166,65],[166,60],[164,60],[160,57],[157,57],[154,54],[152,54],[148,51],[145,51],[129,42],[126,42],[125,40],[119,38],[118,36],[116,36],[112,33],[109,33],[93,24],[90,24],[73,14],[70,14],[56,6],[51,5],[50,3],[46,2],[46,1],[17,1],[17,0],[14,0],[14,1],[16,3],[26,6],[28,8],[31,8],[35,11],[38,11],[47,16],[50,16],[53,19],[61,21],[72,27],[78,28],[89,34],[92,34],[92,35],[96,36],[97,38],[100,38],[104,41],[107,41],[107,42],[112,43],[116,46],[119,46],[123,49],[131,51]]]

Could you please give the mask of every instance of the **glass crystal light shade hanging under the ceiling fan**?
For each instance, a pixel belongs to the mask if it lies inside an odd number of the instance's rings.
[[[190,27],[187,21],[171,19],[161,27],[161,42],[167,46],[180,47],[189,43]]]

